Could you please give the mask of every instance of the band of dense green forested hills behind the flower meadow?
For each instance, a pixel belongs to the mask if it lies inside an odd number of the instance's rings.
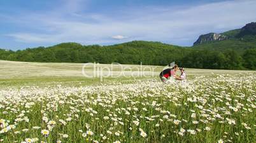
[[[113,46],[82,46],[62,43],[52,47],[27,48],[18,51],[0,50],[0,59],[10,61],[65,63],[121,63],[137,65],[167,65],[175,61],[187,68],[255,70],[256,48],[238,53],[226,49],[213,51],[179,47],[160,42],[132,41]]]

